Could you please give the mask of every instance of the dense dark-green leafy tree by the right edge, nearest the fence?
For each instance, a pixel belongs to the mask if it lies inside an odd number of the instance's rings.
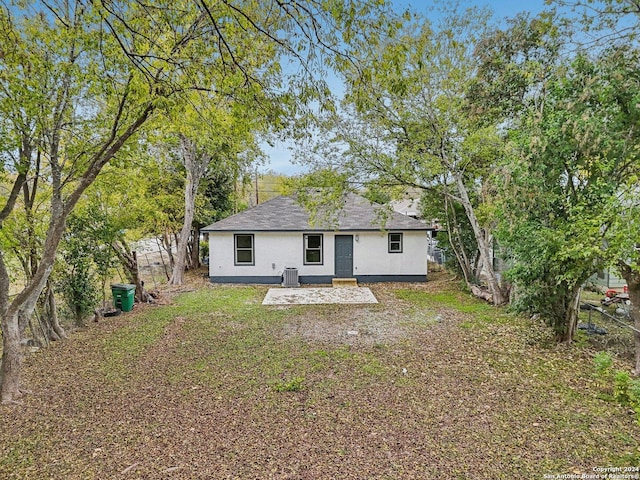
[[[515,147],[499,171],[514,305],[571,341],[582,283],[611,262],[631,274],[623,265],[635,258],[634,222],[621,212],[636,191],[637,53],[628,41],[638,10],[626,0],[559,3],[584,8],[583,22],[519,16],[485,37],[470,95]],[[631,29],[616,28],[623,17]]]

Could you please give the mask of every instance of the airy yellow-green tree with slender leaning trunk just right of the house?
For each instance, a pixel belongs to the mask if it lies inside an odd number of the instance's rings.
[[[450,235],[465,280],[475,289],[483,276],[492,301],[502,304],[492,219],[479,215],[502,142],[474,123],[465,99],[476,69],[473,45],[487,25],[487,12],[453,11],[437,27],[417,19],[393,39],[361,45],[357,65],[338,64],[347,85],[344,114],[329,112],[334,136],[317,156],[322,168],[339,166],[376,189],[437,190],[445,211],[460,205],[479,258],[464,256]]]

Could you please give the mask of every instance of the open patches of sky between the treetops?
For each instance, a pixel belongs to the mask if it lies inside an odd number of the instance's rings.
[[[409,8],[410,10],[423,14],[429,17],[430,7],[433,6],[433,0],[393,0],[392,4],[397,11],[404,11]],[[537,14],[544,10],[544,0],[460,0],[460,5],[464,6],[488,6],[493,10],[495,19],[499,22],[505,18],[512,18],[516,14],[527,11],[532,14]],[[433,14],[431,14],[433,15]],[[297,175],[305,171],[305,167],[296,165],[292,162],[292,148],[293,144],[288,142],[276,142],[271,147],[269,145],[262,145],[262,148],[267,157],[266,164],[260,166],[259,171],[264,173],[267,171],[273,171],[277,174],[284,175]]]

